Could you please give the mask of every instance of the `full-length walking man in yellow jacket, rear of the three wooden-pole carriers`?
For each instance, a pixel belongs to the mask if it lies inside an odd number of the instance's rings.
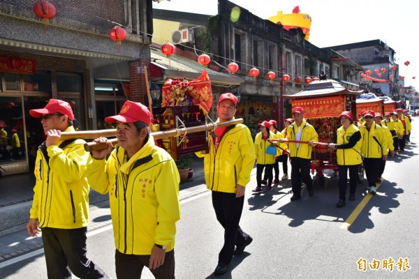
[[[236,96],[232,93],[221,94],[217,122],[233,120],[236,107]],[[214,132],[209,136],[210,152],[198,152],[196,155],[204,157],[205,183],[212,190],[216,219],[224,228],[224,244],[214,271],[216,275],[221,275],[228,271],[233,255],[240,255],[253,241],[249,234],[243,232],[239,223],[244,190],[255,163],[255,151],[250,130],[243,124],[216,128]]]

